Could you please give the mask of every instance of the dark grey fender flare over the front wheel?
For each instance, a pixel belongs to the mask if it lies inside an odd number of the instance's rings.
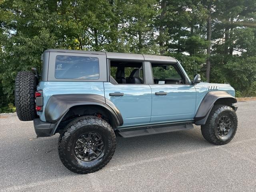
[[[219,99],[221,99],[222,101],[225,100],[225,103],[228,103],[228,104],[233,104],[237,102],[236,98],[228,94],[228,92],[225,92],[225,91],[208,92],[204,96],[204,99],[202,100],[196,112],[196,115],[194,117],[196,125],[204,125],[206,123],[206,120],[212,110],[214,103]]]

